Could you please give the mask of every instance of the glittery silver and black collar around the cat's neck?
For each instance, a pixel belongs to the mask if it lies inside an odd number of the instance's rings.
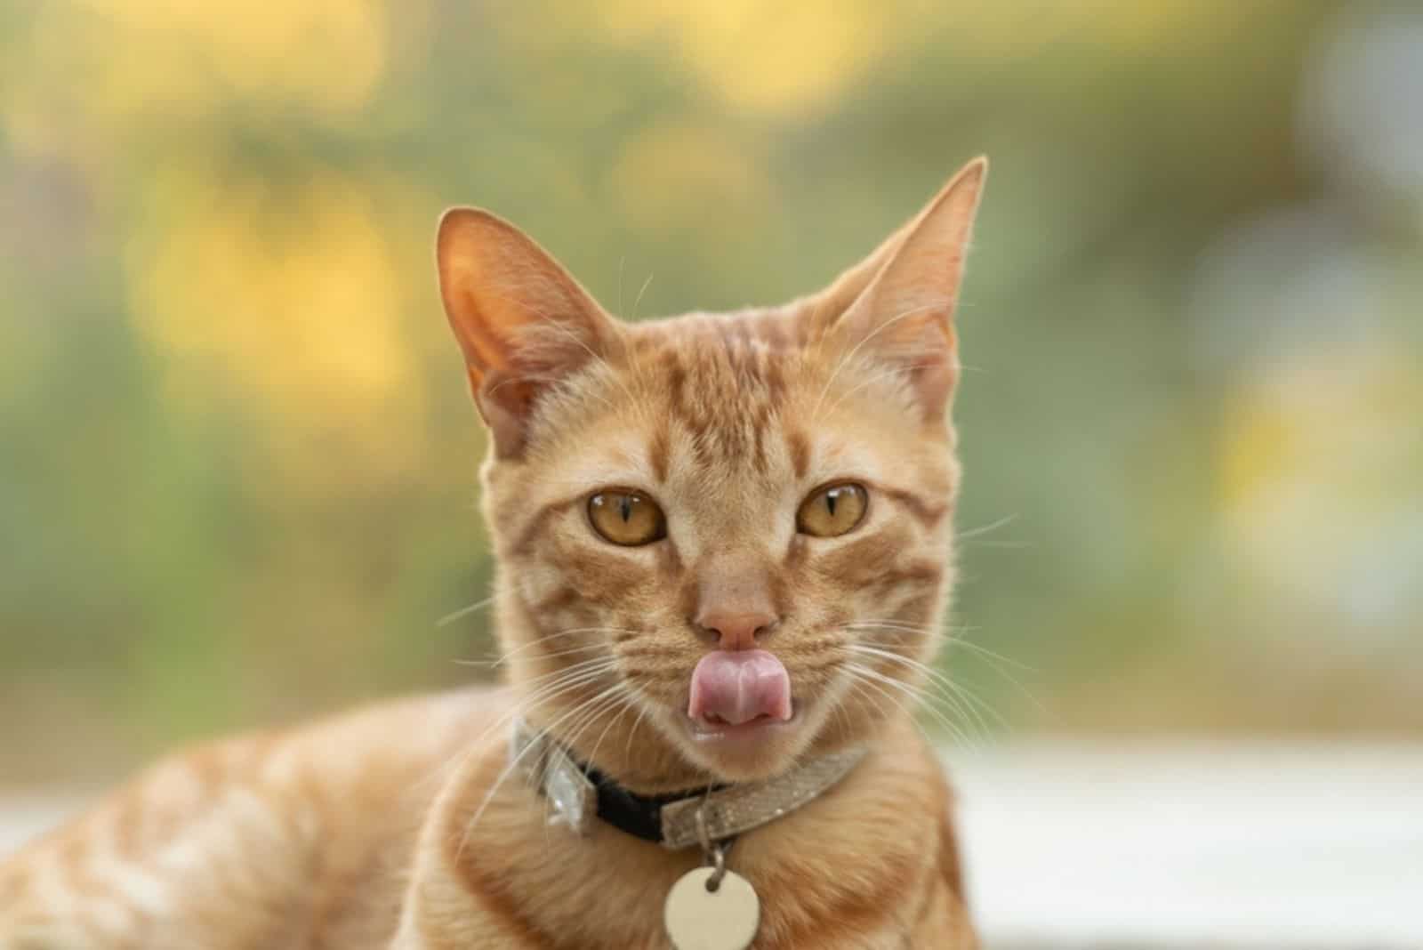
[[[596,816],[672,850],[697,843],[706,848],[791,813],[848,775],[865,751],[857,745],[830,752],[760,782],[639,795],[578,762],[556,740],[522,720],[514,722],[509,745],[511,761],[524,765],[529,784],[554,805],[554,822],[582,835]]]

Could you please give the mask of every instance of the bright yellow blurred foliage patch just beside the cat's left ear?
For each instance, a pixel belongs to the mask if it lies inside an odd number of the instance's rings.
[[[410,384],[400,273],[369,185],[330,171],[280,193],[211,169],[155,182],[169,216],[129,249],[129,303],[171,351],[184,401],[212,393],[216,374],[287,424],[369,427],[388,448],[423,388]]]

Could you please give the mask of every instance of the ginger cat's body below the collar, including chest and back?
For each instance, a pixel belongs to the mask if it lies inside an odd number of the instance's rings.
[[[0,870],[0,947],[666,947],[662,896],[696,853],[549,828],[522,782],[460,848],[505,768],[509,703],[468,690],[384,704],[161,762]],[[739,873],[783,895],[758,947],[969,946],[948,789],[921,737],[898,732],[733,849]]]

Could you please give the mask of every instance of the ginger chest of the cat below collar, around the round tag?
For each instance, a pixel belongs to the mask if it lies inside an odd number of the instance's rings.
[[[499,757],[491,757],[492,771]],[[935,866],[945,802],[935,782],[874,768],[771,825],[744,835],[729,866],[756,890],[756,947],[901,946]],[[891,786],[892,785],[892,786]],[[482,791],[481,791],[482,786]],[[444,835],[447,858],[487,923],[529,946],[670,947],[663,913],[677,880],[703,863],[595,823],[578,835],[518,781],[471,782]],[[482,809],[482,811],[480,811]],[[472,821],[478,813],[478,821]],[[465,823],[467,822],[467,823]],[[869,941],[868,944],[865,941]]]

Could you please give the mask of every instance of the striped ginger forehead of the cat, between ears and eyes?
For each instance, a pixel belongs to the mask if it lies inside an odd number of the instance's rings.
[[[803,316],[791,304],[626,326],[626,346],[544,415],[542,469],[559,488],[652,485],[753,508],[824,478],[882,474],[904,455],[888,444],[902,408],[807,340]]]

